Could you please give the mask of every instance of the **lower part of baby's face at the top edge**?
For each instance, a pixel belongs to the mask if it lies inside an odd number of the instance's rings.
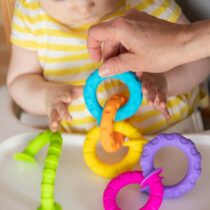
[[[43,9],[67,25],[94,23],[114,11],[122,0],[39,0]]]

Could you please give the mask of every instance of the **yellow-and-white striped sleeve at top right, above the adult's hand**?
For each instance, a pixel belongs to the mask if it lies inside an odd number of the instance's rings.
[[[177,22],[182,13],[174,0],[127,0],[127,9],[131,8],[170,22]]]

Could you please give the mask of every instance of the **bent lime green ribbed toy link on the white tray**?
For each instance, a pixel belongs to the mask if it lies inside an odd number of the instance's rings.
[[[42,173],[41,206],[37,210],[62,210],[61,206],[54,202],[56,170],[63,144],[61,134],[50,130],[40,133],[30,141],[23,152],[15,154],[13,158],[34,164],[37,162],[35,155],[48,143],[49,148]]]

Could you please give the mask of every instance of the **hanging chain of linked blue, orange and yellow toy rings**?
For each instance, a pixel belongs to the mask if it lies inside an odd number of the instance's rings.
[[[103,109],[98,103],[96,90],[99,84],[108,78],[124,82],[130,91],[130,97],[127,100],[124,96],[114,95],[107,101]],[[123,121],[132,116],[141,105],[142,91],[140,81],[132,72],[108,78],[100,77],[98,70],[96,70],[89,76],[84,88],[86,106],[96,118],[98,124],[100,124],[100,128],[94,127],[88,132],[83,145],[83,154],[86,164],[93,172],[103,177],[112,178],[132,169],[140,158],[143,145],[147,141],[133,125]],[[124,141],[126,137],[128,140]],[[99,139],[102,147],[108,152],[115,152],[121,146],[128,147],[127,155],[118,163],[103,163],[98,159],[95,151]]]

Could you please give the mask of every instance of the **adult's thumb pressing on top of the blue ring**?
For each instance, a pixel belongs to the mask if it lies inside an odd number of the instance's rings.
[[[99,74],[101,77],[112,76],[123,72],[131,71],[132,66],[129,65],[132,60],[132,55],[129,53],[120,54],[116,57],[112,57],[104,62],[99,68]]]

